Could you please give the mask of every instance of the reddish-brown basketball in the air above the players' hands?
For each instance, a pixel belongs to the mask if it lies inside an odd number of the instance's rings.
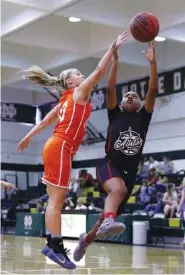
[[[159,33],[159,21],[151,13],[141,12],[130,22],[132,36],[139,42],[150,42]]]

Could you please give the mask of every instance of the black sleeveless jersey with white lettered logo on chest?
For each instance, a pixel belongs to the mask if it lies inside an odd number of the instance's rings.
[[[143,106],[138,112],[108,110],[106,158],[118,169],[137,171],[152,114]]]

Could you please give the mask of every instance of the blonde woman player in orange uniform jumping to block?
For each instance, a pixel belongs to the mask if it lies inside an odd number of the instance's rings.
[[[33,136],[58,119],[54,133],[43,150],[45,175],[42,181],[47,184],[49,200],[46,209],[48,243],[42,253],[66,269],[76,268],[67,256],[61,235],[61,209],[68,191],[72,158],[85,134],[91,113],[91,91],[108,69],[115,49],[126,40],[127,32],[118,36],[87,79],[76,69],[63,71],[59,78],[49,76],[36,66],[25,71],[26,79],[43,86],[59,85],[63,90],[59,104],[22,139],[18,150],[22,152]]]

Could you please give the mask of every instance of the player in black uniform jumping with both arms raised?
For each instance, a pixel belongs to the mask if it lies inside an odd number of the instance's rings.
[[[75,261],[83,257],[87,246],[96,237],[103,239],[110,234],[119,234],[125,229],[123,223],[115,222],[115,218],[119,213],[119,207],[122,208],[132,193],[158,92],[154,41],[145,55],[150,62],[150,81],[144,105],[141,106],[137,93],[130,91],[123,96],[119,106],[115,90],[117,51],[114,54],[107,88],[109,126],[105,146],[106,157],[103,163],[97,165],[97,178],[108,195],[98,222],[88,234],[80,236],[79,244],[74,251]]]

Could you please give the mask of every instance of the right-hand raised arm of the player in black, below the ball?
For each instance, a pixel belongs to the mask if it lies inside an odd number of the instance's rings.
[[[151,47],[148,49],[146,58],[150,62],[150,81],[149,89],[145,99],[145,109],[148,113],[152,113],[154,109],[155,99],[158,93],[158,75],[157,75],[157,61],[155,55],[155,41],[152,41]]]

